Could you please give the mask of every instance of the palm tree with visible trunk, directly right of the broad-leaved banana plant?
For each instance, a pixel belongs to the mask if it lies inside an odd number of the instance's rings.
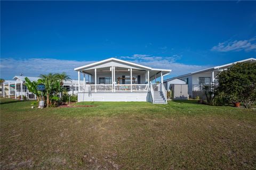
[[[41,80],[38,82],[42,82],[45,85],[45,91],[46,91],[46,104],[47,107],[50,106],[50,95],[54,93],[54,84],[57,82],[57,74],[49,73],[48,75],[40,75],[39,77]]]

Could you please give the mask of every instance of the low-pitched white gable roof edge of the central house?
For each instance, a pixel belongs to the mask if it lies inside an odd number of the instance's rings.
[[[123,64],[129,64],[133,67],[139,67],[139,68],[143,68],[143,69],[147,69],[147,70],[156,70],[156,71],[159,70],[159,71],[169,71],[169,72],[172,71],[172,70],[169,70],[169,69],[156,69],[156,68],[151,68],[151,67],[147,67],[147,66],[142,66],[141,64],[137,64],[137,63],[133,63],[133,62],[130,62],[130,61],[121,60],[121,59],[116,59],[116,58],[109,58],[109,59],[106,59],[106,60],[101,60],[101,61],[98,61],[98,62],[87,64],[85,66],[77,67],[74,70],[75,71],[82,71],[83,69],[88,69],[88,68],[91,68],[91,67],[94,67],[94,66],[99,66],[100,64],[111,62],[111,61],[116,61],[116,62],[120,62],[120,63],[123,63]]]

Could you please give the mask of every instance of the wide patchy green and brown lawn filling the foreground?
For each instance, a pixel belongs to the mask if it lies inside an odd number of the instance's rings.
[[[31,109],[1,98],[1,169],[256,169],[256,111],[196,101]]]

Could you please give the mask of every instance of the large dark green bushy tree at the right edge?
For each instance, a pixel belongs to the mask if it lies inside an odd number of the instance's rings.
[[[256,101],[256,63],[236,63],[218,74],[218,92],[251,108]]]

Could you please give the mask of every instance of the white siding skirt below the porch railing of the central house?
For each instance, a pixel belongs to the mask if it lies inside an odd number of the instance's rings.
[[[85,92],[78,93],[78,102],[82,101],[150,101],[149,92]]]

